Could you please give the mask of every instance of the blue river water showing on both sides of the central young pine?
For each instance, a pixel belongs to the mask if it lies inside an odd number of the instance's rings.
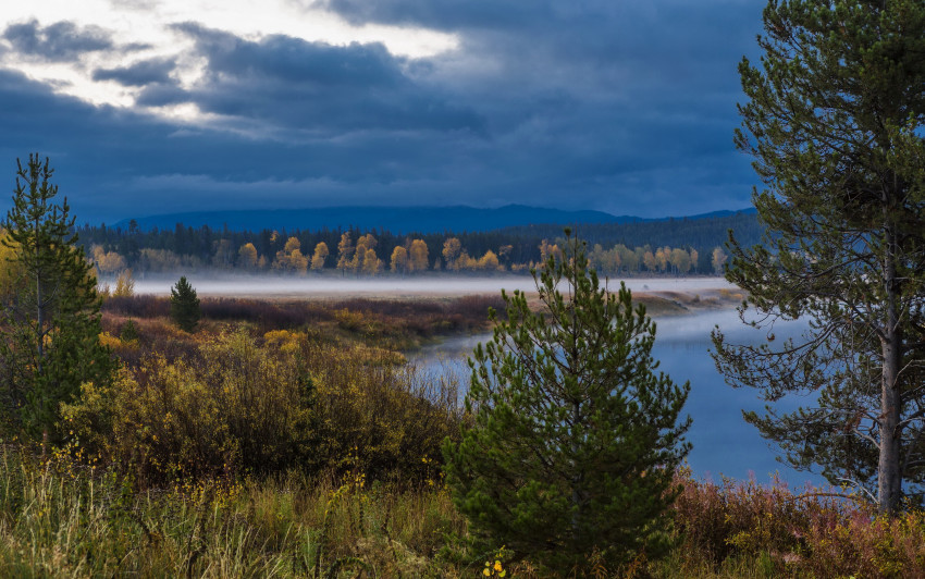
[[[710,334],[716,324],[732,343],[760,343],[766,340],[767,331],[743,325],[732,309],[656,318],[655,321],[653,356],[661,360],[659,370],[676,383],[688,380],[691,383],[684,411],[693,418],[688,433],[693,448],[688,461],[695,476],[718,482],[720,476],[744,480],[753,475],[757,482],[769,483],[770,475],[777,471],[794,489],[806,482],[825,483],[817,475],[797,471],[775,459],[777,453],[742,418],[742,409],[764,408],[757,393],[727,385],[710,356],[713,345]],[[804,322],[778,324],[774,329],[776,343],[798,335],[805,328]],[[469,369],[465,359],[477,343],[488,340],[491,340],[490,333],[447,340],[423,348],[410,359],[424,368],[455,372],[461,384],[468,384]],[[780,404],[795,408],[801,402],[806,401],[791,398]]]

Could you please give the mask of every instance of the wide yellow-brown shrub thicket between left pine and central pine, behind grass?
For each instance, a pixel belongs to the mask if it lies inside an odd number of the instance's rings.
[[[394,352],[244,330],[192,347],[144,358],[111,386],[84,384],[64,407],[82,444],[153,484],[292,468],[421,481],[456,430]]]

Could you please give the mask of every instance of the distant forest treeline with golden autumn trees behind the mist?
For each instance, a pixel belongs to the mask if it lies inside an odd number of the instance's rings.
[[[591,264],[605,275],[715,274],[727,259],[732,230],[740,241],[756,242],[755,215],[669,219],[575,227],[589,243]],[[306,274],[340,271],[375,275],[425,271],[527,272],[562,247],[560,225],[530,225],[491,232],[396,235],[385,230],[320,231],[215,230],[177,223],[173,230],[143,231],[84,225],[84,250],[102,276],[131,269],[136,274],[177,270],[275,271]]]

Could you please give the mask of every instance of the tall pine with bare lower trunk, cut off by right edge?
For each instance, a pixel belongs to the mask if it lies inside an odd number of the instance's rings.
[[[768,235],[732,241],[727,279],[760,325],[810,328],[761,347],[717,332],[717,367],[772,403],[747,419],[789,463],[896,513],[925,491],[925,3],[772,1],[764,28],[736,141]]]

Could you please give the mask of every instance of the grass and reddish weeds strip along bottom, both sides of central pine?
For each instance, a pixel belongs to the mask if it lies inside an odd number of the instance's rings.
[[[878,519],[835,493],[794,495],[679,475],[677,545],[594,577],[925,577],[925,515]],[[115,471],[0,451],[4,577],[542,577],[503,545],[467,547],[439,481],[362,475],[134,489]],[[490,564],[486,567],[486,563]]]

